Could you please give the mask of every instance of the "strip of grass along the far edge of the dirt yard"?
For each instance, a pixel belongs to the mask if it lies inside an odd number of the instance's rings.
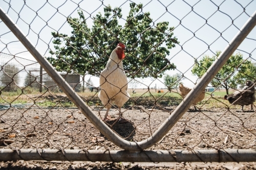
[[[41,93],[38,93],[41,94]],[[103,107],[101,101],[98,98],[97,92],[79,92],[78,93],[84,102],[89,106]],[[211,95],[214,94],[214,95]],[[214,108],[228,108],[229,102],[224,100],[226,92],[206,92],[205,99],[197,104],[198,107],[203,109],[214,109]],[[33,103],[35,100],[36,104],[40,107],[76,107],[67,97],[65,93],[45,93],[44,95],[28,98],[22,98],[20,91],[17,92],[3,92],[0,96],[0,103],[12,103],[12,104],[27,104]],[[52,96],[54,95],[54,96]],[[131,98],[124,104],[125,107],[133,105],[142,105],[152,107],[154,105],[159,106],[178,106],[182,102],[182,97],[176,92],[157,93],[157,92],[146,92],[146,93],[135,93],[130,94]],[[19,96],[19,97],[18,97]],[[32,95],[33,96],[33,95]],[[56,105],[57,104],[57,105]],[[230,108],[240,108],[240,106],[231,106]]]

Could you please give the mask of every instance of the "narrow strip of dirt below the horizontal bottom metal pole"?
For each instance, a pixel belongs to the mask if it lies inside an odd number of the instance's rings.
[[[68,161],[6,161],[0,162],[1,169],[218,169],[238,170],[256,169],[255,162],[182,162],[182,163],[151,163],[151,162],[68,162]]]

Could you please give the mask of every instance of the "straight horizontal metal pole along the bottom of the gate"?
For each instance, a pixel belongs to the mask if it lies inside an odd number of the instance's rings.
[[[255,150],[191,150],[191,151],[108,151],[108,150],[0,150],[1,161],[106,161],[106,162],[253,162]]]

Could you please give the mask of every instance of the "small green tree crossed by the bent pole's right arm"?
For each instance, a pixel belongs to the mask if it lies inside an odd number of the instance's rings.
[[[205,55],[200,61],[196,61],[196,64],[191,69],[192,74],[199,78],[202,77],[220,54],[221,52],[219,51],[212,57]],[[230,87],[236,88],[238,85],[238,79],[235,75],[238,71],[244,72],[248,64],[250,64],[250,61],[244,61],[242,54],[237,53],[236,55],[232,55],[219,70],[214,79],[211,80],[210,84],[213,87],[218,87],[221,85],[226,89],[226,93],[228,94],[228,89]]]

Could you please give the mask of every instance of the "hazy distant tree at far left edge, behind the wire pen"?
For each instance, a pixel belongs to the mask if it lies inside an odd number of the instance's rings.
[[[15,83],[18,84],[19,82],[18,67],[13,64],[7,64],[2,68],[2,74],[0,76],[2,86],[6,87],[5,90],[7,91],[16,89],[17,86]]]

